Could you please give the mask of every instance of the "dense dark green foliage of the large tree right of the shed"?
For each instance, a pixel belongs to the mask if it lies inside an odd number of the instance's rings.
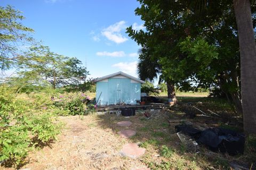
[[[126,32],[141,46],[140,77],[153,80],[161,75],[160,80],[186,91],[220,87],[241,112],[233,2],[138,1],[135,15],[145,21],[146,30],[137,31],[131,26]]]

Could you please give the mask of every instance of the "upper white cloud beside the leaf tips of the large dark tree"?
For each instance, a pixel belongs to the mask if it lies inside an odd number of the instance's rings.
[[[110,41],[114,41],[115,43],[124,43],[128,39],[121,35],[121,30],[125,29],[125,21],[120,21],[110,25],[108,28],[105,28],[101,31],[101,34],[105,36]]]

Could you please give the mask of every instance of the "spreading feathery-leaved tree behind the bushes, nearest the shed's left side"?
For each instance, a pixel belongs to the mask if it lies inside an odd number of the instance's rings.
[[[42,45],[32,46],[24,56],[19,57],[22,78],[50,82],[53,88],[62,86],[78,86],[85,81],[89,74],[82,62],[75,57],[66,57],[50,51],[49,47]],[[33,76],[32,76],[33,75]],[[36,80],[36,81],[35,81]]]

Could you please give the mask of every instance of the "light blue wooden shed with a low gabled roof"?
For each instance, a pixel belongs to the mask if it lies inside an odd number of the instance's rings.
[[[140,79],[117,72],[96,79],[97,105],[136,105],[140,101]]]

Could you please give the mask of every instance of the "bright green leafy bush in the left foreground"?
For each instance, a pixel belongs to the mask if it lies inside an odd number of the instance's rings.
[[[47,100],[46,100],[47,101]],[[49,101],[50,103],[51,101]],[[0,161],[4,166],[25,163],[28,151],[47,145],[60,133],[60,124],[48,109],[49,103],[18,98],[13,89],[0,87]]]

